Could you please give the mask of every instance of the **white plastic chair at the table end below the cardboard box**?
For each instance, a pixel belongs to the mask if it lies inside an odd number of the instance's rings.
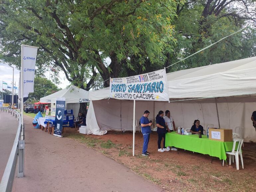
[[[234,156],[235,156],[235,159],[236,159],[236,169],[237,170],[239,170],[239,156],[238,155],[240,155],[241,163],[242,163],[242,168],[244,168],[243,156],[242,156],[242,151],[241,151],[241,147],[242,147],[243,141],[244,141],[244,139],[242,139],[242,138],[234,139],[234,144],[233,144],[232,151],[226,151],[226,153],[228,154],[228,158],[229,158],[229,165],[231,165],[231,158],[232,158],[232,162],[234,163]],[[235,150],[236,142],[238,142],[237,150]],[[234,155],[234,156],[231,156],[231,155]],[[224,166],[224,159],[223,159],[222,166]]]

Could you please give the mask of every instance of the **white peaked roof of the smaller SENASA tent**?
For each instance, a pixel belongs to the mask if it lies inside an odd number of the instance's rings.
[[[40,98],[40,102],[56,103],[56,98],[64,97],[65,103],[87,103],[88,91],[79,89],[78,87],[71,85],[69,88],[62,89],[51,95]]]

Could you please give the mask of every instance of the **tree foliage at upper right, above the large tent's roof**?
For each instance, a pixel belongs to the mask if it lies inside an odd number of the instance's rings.
[[[167,52],[166,66],[185,58],[239,29],[235,34],[172,67],[172,70],[221,63],[256,55],[254,0],[186,1],[177,6],[177,46]]]

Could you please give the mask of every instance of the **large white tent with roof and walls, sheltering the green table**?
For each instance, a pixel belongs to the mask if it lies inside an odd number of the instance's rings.
[[[176,127],[191,128],[195,119],[205,129],[207,124],[219,127],[217,103],[220,127],[242,126],[245,142],[255,142],[256,133],[250,120],[256,110],[255,74],[256,57],[167,73],[171,102],[136,101],[135,119],[138,122],[145,110],[151,112],[152,120],[159,110],[170,110]],[[133,101],[108,99],[108,96],[109,87],[89,93],[89,129],[132,130]]]

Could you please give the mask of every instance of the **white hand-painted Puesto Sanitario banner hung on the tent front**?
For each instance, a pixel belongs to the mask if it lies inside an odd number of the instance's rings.
[[[110,98],[169,101],[164,69],[124,78],[110,79]]]

